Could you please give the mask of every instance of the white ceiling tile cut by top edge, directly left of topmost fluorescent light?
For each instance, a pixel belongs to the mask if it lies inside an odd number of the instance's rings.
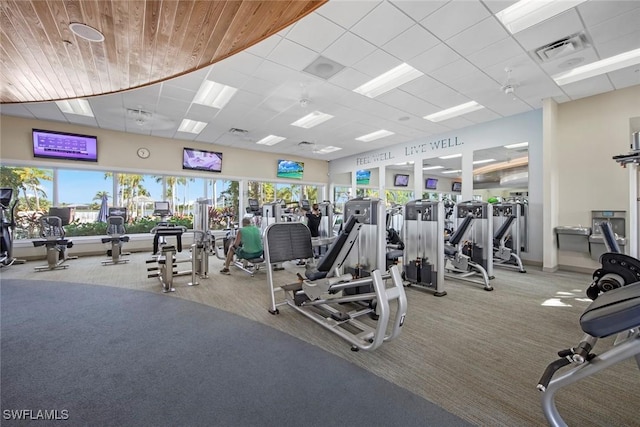
[[[420,21],[423,27],[440,40],[460,33],[490,16],[479,1],[452,1]]]

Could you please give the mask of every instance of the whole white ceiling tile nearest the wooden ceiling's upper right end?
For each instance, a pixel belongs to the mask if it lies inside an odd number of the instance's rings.
[[[296,22],[287,39],[316,52],[322,52],[344,33],[344,28],[317,13],[311,13]]]

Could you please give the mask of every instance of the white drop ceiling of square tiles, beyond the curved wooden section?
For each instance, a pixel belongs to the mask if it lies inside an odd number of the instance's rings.
[[[511,35],[494,14],[514,2],[332,0],[211,67],[91,98],[96,118],[63,114],[52,102],[2,105],[1,110],[7,115],[331,160],[530,111],[540,108],[544,98],[567,102],[640,84],[640,67],[562,87],[552,79],[573,66],[639,48],[640,1],[587,1]],[[546,63],[535,58],[532,50],[578,32],[586,34],[586,49]],[[320,55],[345,68],[327,80],[302,71]],[[374,99],[353,92],[403,62],[424,75]],[[507,67],[513,70],[515,98],[501,90]],[[204,79],[238,91],[222,110],[194,104]],[[300,102],[303,98],[306,105]],[[470,100],[486,108],[440,123],[423,119]],[[149,112],[152,119],[141,126],[127,117],[127,109]],[[291,126],[316,110],[335,117],[311,129]],[[208,125],[199,135],[178,132],[184,118]],[[248,133],[234,135],[230,128]],[[355,141],[380,129],[394,135],[368,143]],[[273,146],[255,144],[270,134],[287,139]],[[301,141],[312,145],[300,146]],[[341,150],[314,152],[329,145]]]

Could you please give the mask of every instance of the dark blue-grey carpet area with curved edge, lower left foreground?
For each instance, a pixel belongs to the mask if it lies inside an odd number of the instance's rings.
[[[464,426],[322,349],[202,304],[121,288],[1,283],[2,425]],[[67,420],[7,420],[7,410]],[[66,412],[63,412],[66,411]]]

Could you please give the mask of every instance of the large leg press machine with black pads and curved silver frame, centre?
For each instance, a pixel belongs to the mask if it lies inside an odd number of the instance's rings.
[[[311,233],[301,223],[276,223],[265,232],[267,280],[271,294],[269,312],[288,305],[351,344],[353,351],[375,350],[383,342],[400,335],[407,310],[407,299],[397,266],[389,273],[380,269],[369,277],[354,279],[341,272],[349,252],[358,240],[362,224],[351,217],[323,259],[326,271],[317,278],[303,278],[292,284],[275,286],[272,266],[277,263],[313,256]],[[323,264],[321,262],[320,264]],[[319,264],[319,265],[320,265]],[[366,293],[348,292],[371,289]],[[276,292],[283,292],[278,300]]]

